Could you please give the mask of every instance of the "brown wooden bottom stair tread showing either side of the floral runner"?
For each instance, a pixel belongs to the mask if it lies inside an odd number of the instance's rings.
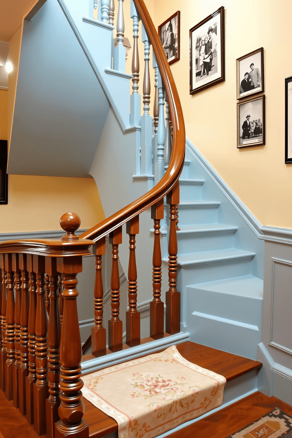
[[[178,344],[176,347],[185,359],[223,375],[227,381],[262,367],[261,362],[257,360],[246,359],[236,354],[226,353],[190,341]],[[89,426],[89,436],[91,438],[98,438],[117,431],[118,425],[113,418],[108,417],[88,400],[83,399],[83,402],[85,407],[84,419]]]

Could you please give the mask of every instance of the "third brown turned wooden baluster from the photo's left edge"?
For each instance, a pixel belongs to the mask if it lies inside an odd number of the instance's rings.
[[[20,307],[21,307],[21,270],[19,269],[18,254],[12,254],[12,269],[14,270],[14,289],[15,289],[15,310],[14,310],[14,350],[15,362],[12,368],[13,371],[13,404],[18,408],[19,404],[19,383],[18,383],[18,368],[20,367]]]

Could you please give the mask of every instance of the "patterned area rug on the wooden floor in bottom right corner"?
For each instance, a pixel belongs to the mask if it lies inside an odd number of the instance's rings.
[[[292,417],[274,409],[227,438],[292,438]]]

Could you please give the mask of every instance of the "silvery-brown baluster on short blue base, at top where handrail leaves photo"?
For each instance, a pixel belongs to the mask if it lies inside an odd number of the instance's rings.
[[[139,53],[138,53],[138,31],[139,18],[133,0],[130,3],[130,17],[133,19],[133,57],[132,57],[132,94],[130,95],[130,126],[141,126],[141,95],[139,89]]]

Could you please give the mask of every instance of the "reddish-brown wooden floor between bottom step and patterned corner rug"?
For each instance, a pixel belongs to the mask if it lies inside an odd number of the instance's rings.
[[[292,406],[276,397],[268,397],[261,392],[254,392],[250,396],[184,427],[183,438],[226,438],[263,417],[274,408],[279,408],[292,416]],[[169,435],[169,438],[181,437],[182,430]]]

